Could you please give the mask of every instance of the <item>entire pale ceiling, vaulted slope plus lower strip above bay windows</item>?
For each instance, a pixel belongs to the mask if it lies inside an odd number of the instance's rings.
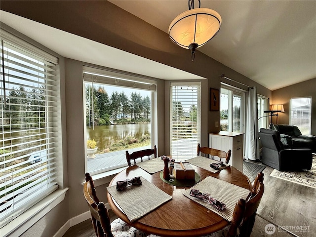
[[[187,0],[110,2],[166,33],[170,22],[188,10]],[[201,7],[216,10],[222,26],[197,49],[196,57],[202,52],[270,90],[316,78],[316,1],[201,0]],[[11,13],[1,11],[0,21],[67,58],[160,79],[201,79]],[[78,48],[93,52],[93,57]],[[102,57],[105,52],[113,53],[108,62]]]

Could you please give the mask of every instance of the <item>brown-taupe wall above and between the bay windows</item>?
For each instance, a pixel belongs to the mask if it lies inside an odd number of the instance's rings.
[[[257,86],[259,94],[271,97],[271,91],[267,88],[200,52],[192,62],[189,50],[173,44],[166,33],[107,1],[1,0],[0,8],[206,78],[201,82],[202,146],[207,146],[209,132],[219,130],[219,127],[215,127],[215,121],[219,121],[220,113],[209,111],[209,88],[220,88],[221,74],[249,86]],[[65,84],[61,88],[65,94],[62,117],[67,125],[63,129],[63,135],[67,138],[63,144],[67,151],[67,156],[64,156],[64,180],[69,190],[65,200],[23,236],[53,236],[66,220],[88,210],[81,186],[85,172],[82,65],[83,62],[72,59],[65,59],[61,65],[65,74]],[[155,131],[158,134],[158,155],[169,152],[169,82],[158,79],[158,99],[154,102],[158,108],[158,129]],[[247,89],[235,82],[223,82]],[[106,186],[97,187],[103,201],[106,201]]]

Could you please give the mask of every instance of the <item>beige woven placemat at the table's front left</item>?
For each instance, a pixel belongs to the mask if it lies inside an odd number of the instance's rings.
[[[117,191],[116,185],[107,188],[130,222],[145,216],[172,199],[172,196],[167,195],[143,177],[140,178],[142,185],[130,186],[124,191]]]

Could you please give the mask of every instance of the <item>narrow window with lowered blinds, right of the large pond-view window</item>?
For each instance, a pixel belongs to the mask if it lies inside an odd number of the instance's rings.
[[[171,155],[196,156],[200,142],[200,83],[170,84]]]

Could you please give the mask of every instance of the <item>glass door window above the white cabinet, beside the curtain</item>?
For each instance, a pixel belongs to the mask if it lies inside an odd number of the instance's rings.
[[[244,92],[222,84],[220,111],[221,131],[243,132]]]

